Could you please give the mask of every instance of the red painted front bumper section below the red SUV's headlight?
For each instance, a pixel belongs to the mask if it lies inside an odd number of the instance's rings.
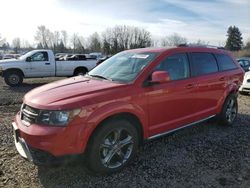
[[[48,152],[53,156],[73,155],[83,153],[84,144],[87,142],[83,135],[84,127],[78,119],[73,120],[66,127],[52,127],[31,124],[26,126],[16,115],[14,123],[18,128],[20,137],[26,145]]]

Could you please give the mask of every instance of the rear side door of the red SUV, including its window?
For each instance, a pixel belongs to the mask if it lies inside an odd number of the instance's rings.
[[[195,108],[197,118],[203,119],[215,115],[219,101],[223,99],[227,74],[219,71],[216,58],[212,53],[190,53],[192,77],[196,79]]]

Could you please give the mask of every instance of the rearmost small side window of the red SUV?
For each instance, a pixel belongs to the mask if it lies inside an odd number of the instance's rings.
[[[237,68],[233,60],[225,54],[216,54],[215,55],[219,64],[220,70],[231,70]]]

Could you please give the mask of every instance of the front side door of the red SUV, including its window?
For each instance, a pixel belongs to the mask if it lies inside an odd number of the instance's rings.
[[[195,83],[185,53],[166,57],[154,71],[167,71],[170,81],[146,87],[149,134],[155,135],[192,122]]]

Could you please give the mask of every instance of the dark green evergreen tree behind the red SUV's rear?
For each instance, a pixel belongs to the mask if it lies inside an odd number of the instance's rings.
[[[242,36],[238,27],[230,26],[227,30],[227,42],[225,48],[231,51],[238,51],[242,48]]]

